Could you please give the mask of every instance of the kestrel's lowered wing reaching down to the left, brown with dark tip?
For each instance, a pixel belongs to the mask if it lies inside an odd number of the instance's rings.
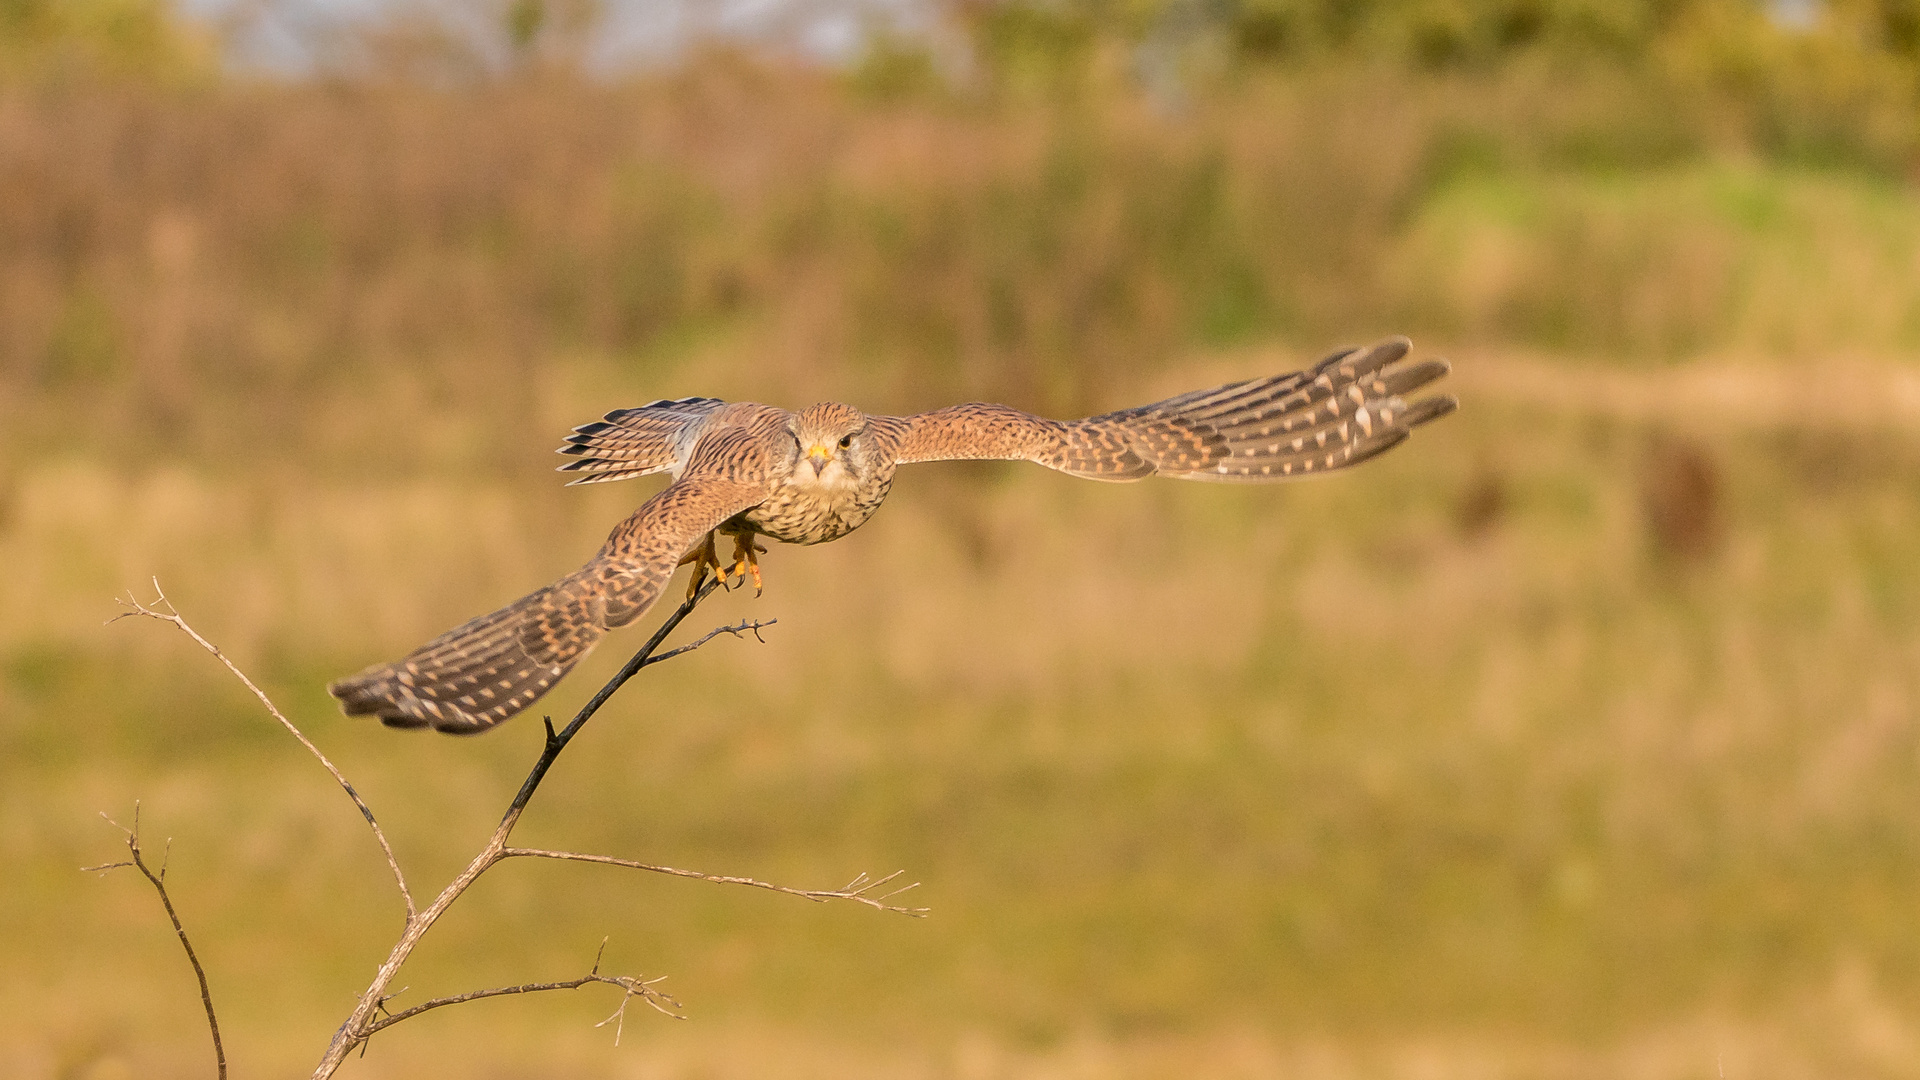
[[[540,700],[607,630],[639,619],[680,555],[764,498],[764,484],[684,477],[622,521],[588,565],[326,692],[348,715],[392,726],[486,730]]]

